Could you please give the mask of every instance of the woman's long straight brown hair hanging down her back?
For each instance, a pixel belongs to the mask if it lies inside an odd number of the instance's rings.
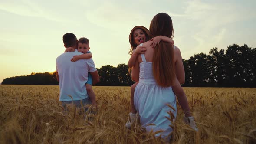
[[[173,38],[174,30],[171,17],[166,13],[158,13],[152,19],[149,31],[155,36],[167,36]],[[153,75],[159,86],[168,87],[173,85],[175,75],[174,48],[173,45],[161,41],[154,49]]]

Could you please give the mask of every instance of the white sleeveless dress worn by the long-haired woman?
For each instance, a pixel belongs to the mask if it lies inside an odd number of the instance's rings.
[[[134,105],[140,116],[141,126],[146,128],[147,132],[153,130],[163,132],[156,134],[162,138],[167,137],[173,130],[169,126],[171,121],[166,117],[170,117],[167,113],[171,111],[174,117],[177,116],[176,97],[171,87],[158,86],[152,69],[152,62],[146,62],[145,55],[141,54],[142,62],[140,63],[139,83],[135,88]],[[166,104],[171,105],[173,109]],[[148,124],[155,124],[149,125]]]

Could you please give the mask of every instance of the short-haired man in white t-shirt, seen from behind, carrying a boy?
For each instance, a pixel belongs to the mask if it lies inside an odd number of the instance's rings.
[[[65,52],[56,59],[56,76],[59,81],[59,101],[62,101],[63,107],[66,104],[74,104],[81,107],[92,104],[86,92],[85,83],[88,80],[88,72],[91,73],[93,84],[99,82],[98,71],[95,68],[92,59],[80,59],[76,62],[70,61],[75,55],[81,53],[77,51],[77,38],[73,33],[63,35],[64,46],[72,47],[74,52]]]

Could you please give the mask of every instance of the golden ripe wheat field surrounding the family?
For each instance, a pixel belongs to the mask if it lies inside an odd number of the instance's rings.
[[[129,87],[93,87],[98,108],[63,114],[59,87],[0,85],[1,144],[161,144],[138,123],[125,128]],[[184,88],[198,132],[183,122],[178,105],[173,144],[255,144],[256,88]],[[170,123],[171,124],[171,123]]]

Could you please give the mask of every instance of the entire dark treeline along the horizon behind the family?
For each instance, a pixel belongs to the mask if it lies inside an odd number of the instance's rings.
[[[256,48],[233,44],[226,50],[213,48],[209,54],[200,53],[183,59],[186,81],[190,87],[256,87]],[[97,69],[102,86],[130,86],[134,82],[128,65],[102,66]],[[4,79],[2,84],[58,85],[56,72],[31,73]]]

